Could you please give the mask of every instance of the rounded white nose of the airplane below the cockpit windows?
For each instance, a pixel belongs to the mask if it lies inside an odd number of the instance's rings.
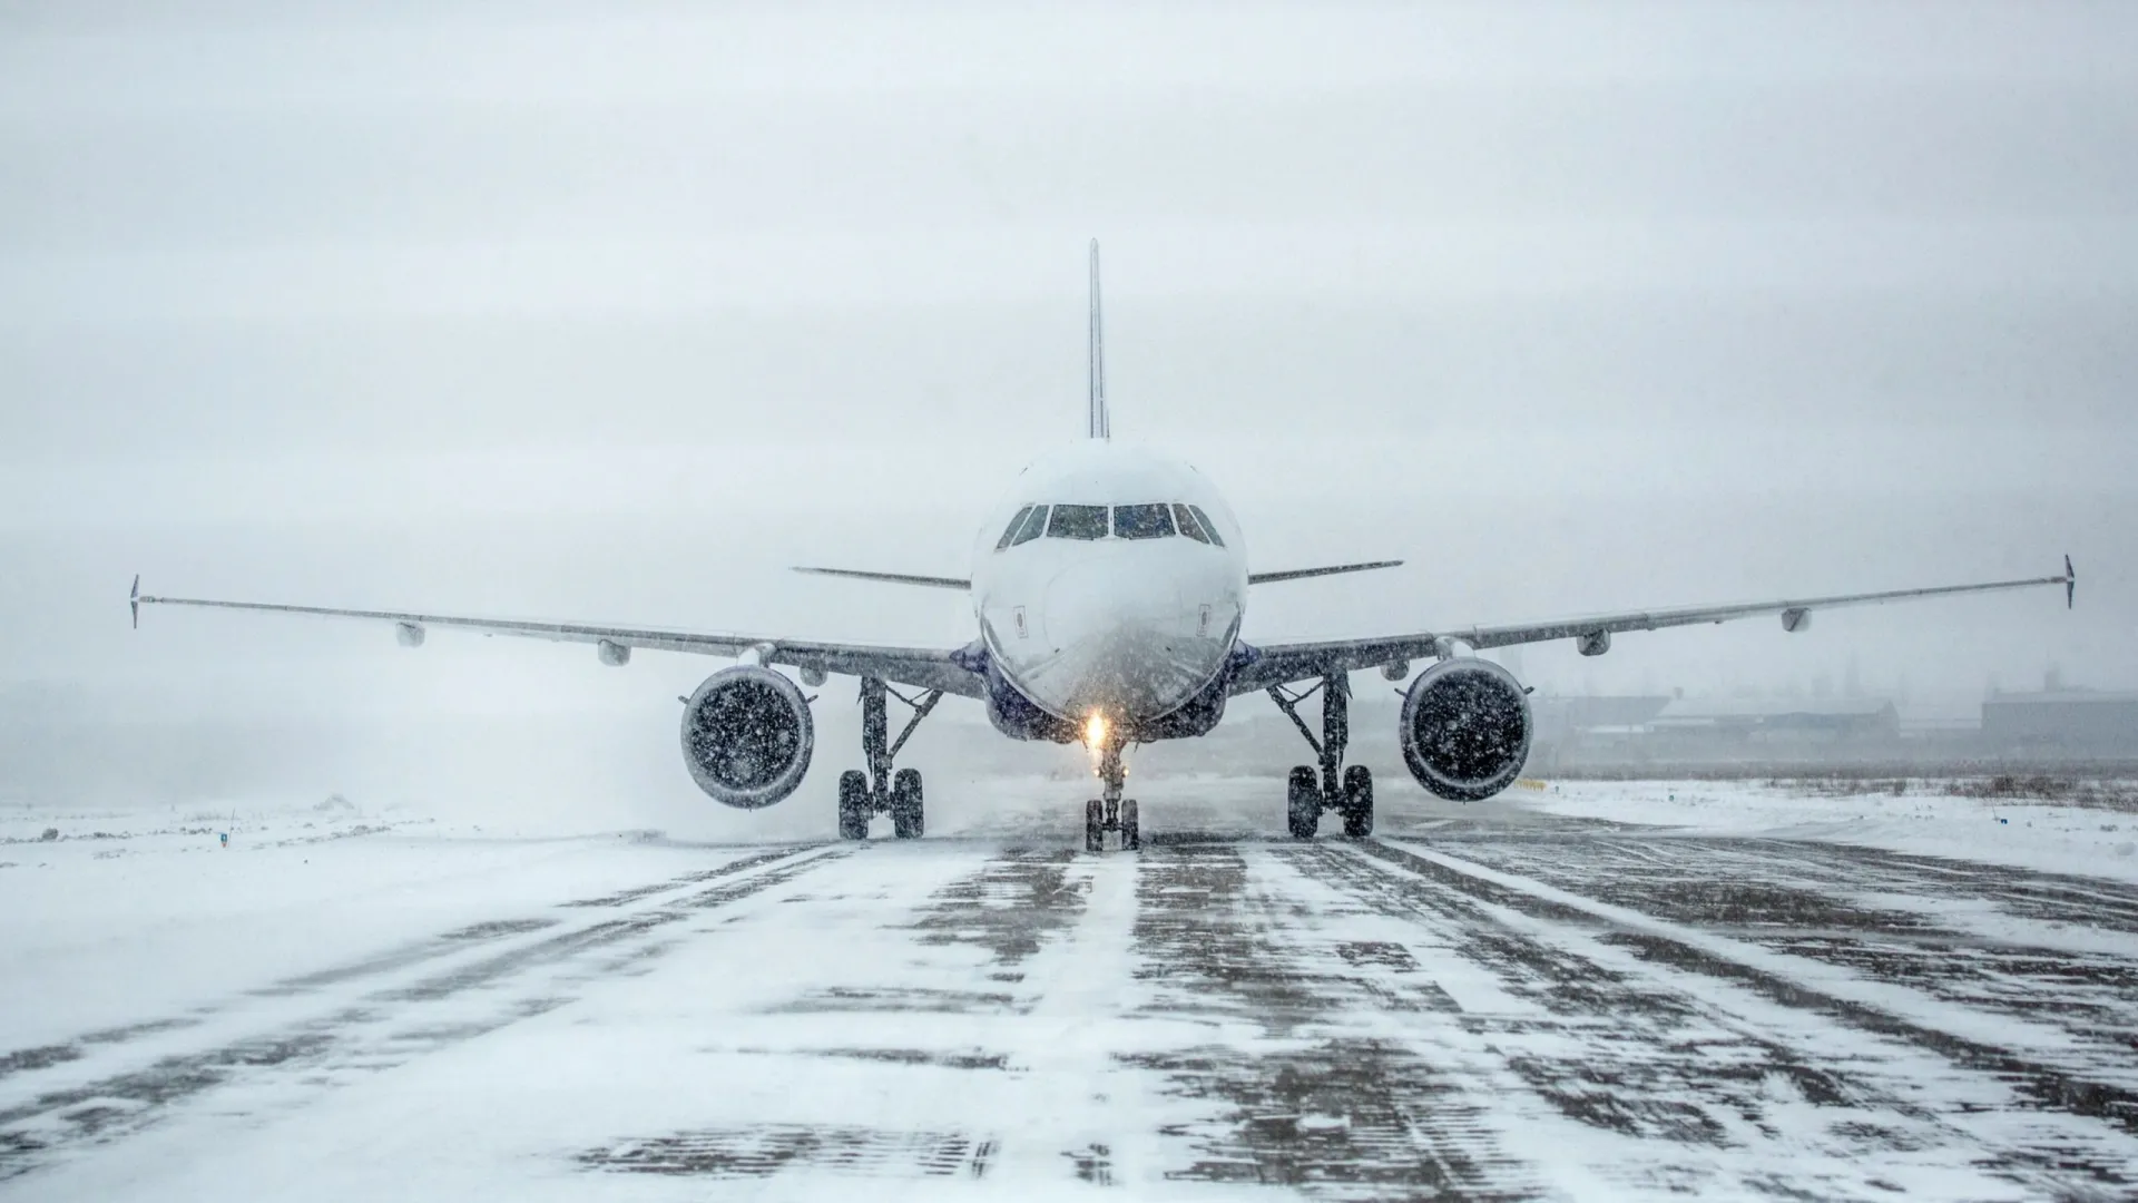
[[[1159,717],[1208,685],[1225,657],[1208,602],[1161,565],[1086,561],[1048,582],[1031,666],[1035,700],[1065,715]],[[1229,623],[1229,616],[1225,619]]]

